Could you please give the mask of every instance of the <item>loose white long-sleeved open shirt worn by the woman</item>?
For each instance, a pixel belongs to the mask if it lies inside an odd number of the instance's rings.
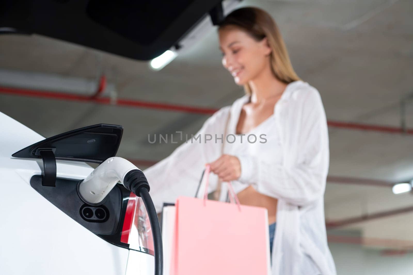
[[[220,138],[225,133],[228,115],[227,134],[235,134],[241,108],[247,101],[248,96],[243,96],[208,118],[195,134],[201,135],[201,143],[188,140],[144,171],[157,212],[164,202],[175,202],[180,195],[195,195],[205,164],[221,156],[221,139],[216,140],[215,136]],[[324,219],[329,148],[320,94],[306,82],[290,83],[274,106],[273,121],[278,146],[282,148],[281,160],[278,155],[271,160],[242,150],[234,154],[241,162],[238,182],[245,187],[253,185],[258,192],[278,199],[272,274],[307,275],[303,271],[307,254],[321,274],[335,275]],[[205,141],[206,134],[212,140]],[[216,176],[211,176],[209,191],[216,188],[216,182]]]

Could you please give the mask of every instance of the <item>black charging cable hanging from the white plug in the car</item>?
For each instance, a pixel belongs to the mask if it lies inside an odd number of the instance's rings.
[[[149,195],[149,183],[142,171],[134,169],[129,171],[123,179],[123,185],[133,194],[142,198],[149,216],[149,222],[152,228],[155,250],[155,275],[162,275],[164,265],[164,252],[162,249],[161,227],[159,226],[158,215],[155,210],[152,198]]]

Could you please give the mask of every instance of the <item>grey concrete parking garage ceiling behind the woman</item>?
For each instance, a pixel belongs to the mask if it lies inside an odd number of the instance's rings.
[[[317,87],[328,120],[400,127],[400,101],[413,94],[411,0],[243,1],[270,12],[294,68]],[[221,66],[216,31],[159,72],[134,61],[39,35],[0,36],[0,69],[95,79],[104,72],[116,96],[220,108],[242,96]],[[0,79],[0,86],[1,86]],[[0,94],[0,111],[43,136],[95,123],[123,125],[118,155],[157,161],[175,144],[150,144],[148,134],[195,134],[207,115]],[[52,118],[52,120],[50,119]],[[405,122],[413,128],[413,104]],[[330,175],[406,181],[413,178],[413,135],[330,127]],[[347,219],[413,205],[391,188],[328,183],[326,218]],[[413,241],[412,214],[345,226],[363,237]]]

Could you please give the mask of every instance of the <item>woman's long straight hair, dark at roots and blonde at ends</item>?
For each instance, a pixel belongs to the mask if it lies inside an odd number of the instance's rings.
[[[292,68],[290,56],[274,19],[263,9],[256,7],[244,7],[236,9],[228,14],[219,24],[218,30],[228,26],[241,28],[256,41],[267,38],[272,51],[271,71],[278,80],[288,84],[300,80]],[[244,85],[246,94],[251,94],[249,84]]]

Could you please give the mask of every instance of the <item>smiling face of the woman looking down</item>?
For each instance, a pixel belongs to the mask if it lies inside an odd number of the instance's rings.
[[[222,64],[237,85],[245,85],[263,70],[271,68],[271,47],[266,38],[257,41],[240,28],[226,26],[219,30],[219,45],[223,53]]]

